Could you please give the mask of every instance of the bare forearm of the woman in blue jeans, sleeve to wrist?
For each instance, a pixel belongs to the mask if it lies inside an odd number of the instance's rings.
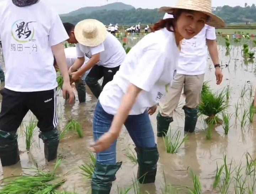
[[[135,103],[135,100],[139,95],[140,91],[141,91],[140,88],[138,88],[137,86],[134,86],[133,84],[130,84],[126,94],[122,98],[120,106],[117,110],[117,114],[114,116],[113,122],[111,124],[111,130],[110,130],[111,133],[114,133],[114,134],[120,133],[122,129],[122,125],[126,121],[128,114],[132,109],[133,104]]]

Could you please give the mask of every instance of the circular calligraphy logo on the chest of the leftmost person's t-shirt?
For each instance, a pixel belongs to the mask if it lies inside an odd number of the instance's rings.
[[[11,29],[12,38],[19,43],[32,41],[35,33],[33,23],[33,21],[25,22],[23,20],[14,22]]]

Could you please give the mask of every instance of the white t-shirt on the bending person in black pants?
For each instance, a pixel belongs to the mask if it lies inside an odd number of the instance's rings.
[[[78,43],[76,44],[76,49],[78,57],[87,56],[89,59],[92,55],[100,53],[100,61],[97,65],[106,68],[114,68],[121,65],[126,57],[122,44],[110,33],[107,33],[105,41],[96,47],[86,47]]]

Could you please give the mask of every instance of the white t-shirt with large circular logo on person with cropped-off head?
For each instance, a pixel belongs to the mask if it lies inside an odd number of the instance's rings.
[[[44,1],[17,7],[4,0],[0,18],[5,88],[35,92],[57,87],[51,46],[69,38],[57,12]]]

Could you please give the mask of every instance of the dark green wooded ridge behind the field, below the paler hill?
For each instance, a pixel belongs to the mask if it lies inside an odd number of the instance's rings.
[[[132,7],[132,6],[131,6]],[[86,9],[86,8],[85,8]],[[220,7],[218,11],[215,11],[214,14],[220,16],[226,24],[229,23],[242,23],[245,24],[247,22],[256,22],[256,7],[253,4],[252,6],[246,7],[230,7],[223,6]],[[78,14],[77,12],[73,12],[72,16],[62,16],[63,22],[71,22],[78,23],[81,20],[94,18],[99,20],[106,25],[109,23],[119,23],[121,25],[134,25],[138,22],[144,24],[151,24],[159,21],[163,18],[164,13],[158,13],[157,9],[128,9],[128,10],[112,10],[108,11],[98,10],[93,11],[91,13],[83,12]],[[250,26],[248,26],[250,27]]]

